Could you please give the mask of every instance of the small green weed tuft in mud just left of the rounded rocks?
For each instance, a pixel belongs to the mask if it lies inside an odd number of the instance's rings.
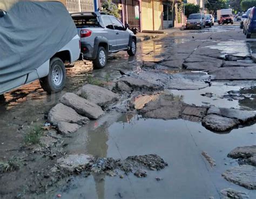
[[[35,145],[40,143],[41,136],[43,135],[43,129],[39,126],[35,126],[24,137],[25,145]]]

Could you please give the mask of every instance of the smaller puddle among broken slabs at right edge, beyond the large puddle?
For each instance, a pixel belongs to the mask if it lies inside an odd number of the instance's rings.
[[[178,91],[168,90],[166,93],[178,95],[186,104],[196,106],[216,106],[226,108],[238,108],[256,110],[255,87],[252,90],[239,92],[244,87],[254,86],[255,81],[244,81],[237,84],[227,82],[213,82],[210,87],[201,90]],[[235,95],[232,95],[232,91]]]

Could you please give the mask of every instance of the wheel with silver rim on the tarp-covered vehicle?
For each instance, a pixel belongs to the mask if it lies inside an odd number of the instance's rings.
[[[63,61],[58,57],[52,58],[48,76],[39,81],[43,90],[48,93],[57,93],[63,90],[66,83],[66,69]]]

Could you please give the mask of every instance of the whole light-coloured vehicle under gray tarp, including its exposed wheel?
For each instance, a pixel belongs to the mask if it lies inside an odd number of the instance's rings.
[[[35,79],[48,92],[61,90],[63,62],[79,53],[76,26],[62,3],[14,4],[0,17],[0,94]]]

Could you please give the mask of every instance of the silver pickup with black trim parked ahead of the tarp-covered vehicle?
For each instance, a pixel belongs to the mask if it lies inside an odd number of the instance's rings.
[[[103,12],[71,13],[71,17],[81,38],[81,56],[92,60],[95,68],[103,68],[110,53],[136,54],[136,36],[116,17]]]

